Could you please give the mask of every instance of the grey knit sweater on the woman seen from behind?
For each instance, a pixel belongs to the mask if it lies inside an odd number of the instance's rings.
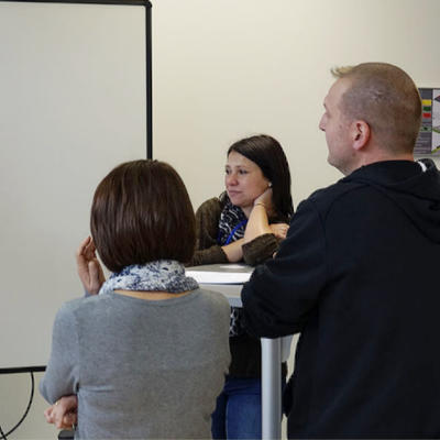
[[[230,362],[229,311],[224,297],[202,289],[66,302],[40,391],[51,404],[77,394],[76,439],[210,438]]]

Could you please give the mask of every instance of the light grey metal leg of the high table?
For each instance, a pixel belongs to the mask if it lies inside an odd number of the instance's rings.
[[[261,339],[262,344],[262,437],[282,438],[282,343]]]

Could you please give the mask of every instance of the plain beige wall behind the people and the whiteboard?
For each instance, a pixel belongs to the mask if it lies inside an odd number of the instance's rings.
[[[265,132],[284,145],[296,205],[340,177],[318,121],[334,65],[383,61],[440,86],[438,0],[153,0],[156,158],[197,207],[222,190],[226,150]],[[0,425],[21,417],[28,376],[0,376]],[[35,404],[11,439],[56,438]],[[53,436],[52,436],[53,433]]]

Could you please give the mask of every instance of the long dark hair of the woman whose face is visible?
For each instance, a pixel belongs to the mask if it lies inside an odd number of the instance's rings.
[[[289,219],[294,213],[290,170],[279,142],[267,134],[258,134],[235,142],[229,147],[228,156],[231,152],[237,152],[258,165],[263,176],[272,183],[276,212]]]

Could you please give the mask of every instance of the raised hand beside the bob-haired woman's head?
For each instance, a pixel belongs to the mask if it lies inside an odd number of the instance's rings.
[[[96,256],[96,248],[91,237],[79,245],[76,252],[76,264],[79,279],[84,288],[91,295],[97,295],[106,282],[102,267]]]

